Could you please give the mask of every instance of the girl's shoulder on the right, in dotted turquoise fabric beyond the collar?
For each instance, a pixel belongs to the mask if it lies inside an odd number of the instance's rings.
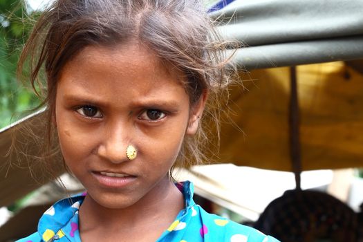
[[[272,236],[267,236],[259,230],[246,225],[241,225],[216,214],[205,212],[203,208],[196,205],[200,213],[205,241],[230,241],[230,242],[279,242]]]

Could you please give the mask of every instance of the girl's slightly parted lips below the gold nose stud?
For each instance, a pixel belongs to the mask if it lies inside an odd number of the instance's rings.
[[[136,179],[136,176],[131,176],[129,174],[119,174],[112,172],[92,172],[93,176],[98,180],[98,182],[104,187],[114,187],[114,188],[122,188],[126,187],[133,180]]]

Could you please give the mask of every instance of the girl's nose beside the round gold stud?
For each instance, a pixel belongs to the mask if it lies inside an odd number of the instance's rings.
[[[97,154],[115,164],[129,160],[127,158],[126,149],[132,144],[129,144],[129,142],[127,142],[129,139],[124,137],[125,132],[110,130],[106,133],[107,135],[103,139],[104,142],[102,142],[97,149]]]

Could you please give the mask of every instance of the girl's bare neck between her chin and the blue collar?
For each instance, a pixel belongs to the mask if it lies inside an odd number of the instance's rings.
[[[82,240],[90,241],[86,238],[95,239],[97,234],[101,234],[103,241],[106,241],[104,234],[109,234],[110,239],[122,236],[134,241],[136,236],[141,235],[143,238],[145,230],[150,230],[149,234],[156,236],[153,239],[155,241],[167,230],[184,206],[183,194],[169,179],[160,181],[140,201],[122,209],[103,207],[91,196],[86,196],[80,207]],[[140,234],[140,231],[144,232]]]

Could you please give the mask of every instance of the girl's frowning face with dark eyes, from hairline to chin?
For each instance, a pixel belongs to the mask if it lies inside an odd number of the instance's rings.
[[[156,199],[169,182],[185,135],[193,135],[205,96],[190,106],[179,71],[137,43],[89,46],[64,66],[55,123],[64,160],[104,207]],[[138,149],[128,160],[126,149]]]

